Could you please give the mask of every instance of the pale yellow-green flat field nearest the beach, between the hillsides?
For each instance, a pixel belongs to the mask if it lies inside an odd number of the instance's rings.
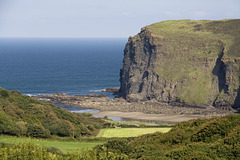
[[[107,128],[101,129],[97,137],[137,137],[155,132],[168,132],[171,128]]]

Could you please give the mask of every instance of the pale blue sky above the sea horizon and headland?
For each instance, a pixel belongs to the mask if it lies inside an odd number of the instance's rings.
[[[240,0],[0,0],[0,37],[128,37],[170,19],[240,18]]]

